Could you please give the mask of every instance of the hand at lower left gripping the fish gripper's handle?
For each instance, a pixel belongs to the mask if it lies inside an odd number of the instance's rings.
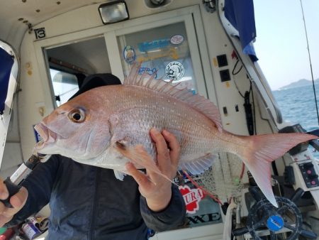
[[[4,181],[0,178],[0,200],[6,200],[8,197],[9,192],[6,189]],[[26,204],[27,198],[28,190],[26,190],[26,187],[21,187],[21,189],[10,198],[12,207],[6,207],[0,202],[0,227],[4,226],[4,224],[12,219],[14,214],[20,211],[24,204]]]

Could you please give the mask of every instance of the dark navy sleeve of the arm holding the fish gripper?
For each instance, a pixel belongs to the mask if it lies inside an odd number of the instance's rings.
[[[23,220],[40,211],[49,201],[55,175],[59,168],[59,156],[51,156],[45,163],[39,163],[35,169],[22,182],[28,190],[28,199],[23,208],[17,212],[5,227],[13,227]]]

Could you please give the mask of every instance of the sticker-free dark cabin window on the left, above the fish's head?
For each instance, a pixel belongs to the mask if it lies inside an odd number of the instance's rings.
[[[85,77],[111,72],[103,36],[50,46],[45,49],[45,57],[55,107],[67,102],[82,86]]]

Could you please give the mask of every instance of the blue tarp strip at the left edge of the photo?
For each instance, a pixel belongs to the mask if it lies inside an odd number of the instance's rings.
[[[0,48],[0,114],[4,114],[4,102],[8,94],[9,79],[11,68],[13,66],[13,57]]]

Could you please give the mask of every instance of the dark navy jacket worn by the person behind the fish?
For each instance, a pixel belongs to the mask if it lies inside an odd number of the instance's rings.
[[[174,185],[169,206],[152,212],[132,177],[117,180],[113,170],[59,155],[40,163],[22,185],[28,189],[28,200],[7,226],[50,202],[48,239],[147,239],[147,227],[169,230],[182,224],[186,214]]]

